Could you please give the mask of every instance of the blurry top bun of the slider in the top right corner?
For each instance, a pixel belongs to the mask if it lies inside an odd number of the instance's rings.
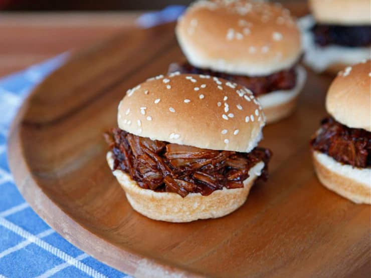
[[[371,24],[369,0],[310,0],[309,5],[318,23]]]

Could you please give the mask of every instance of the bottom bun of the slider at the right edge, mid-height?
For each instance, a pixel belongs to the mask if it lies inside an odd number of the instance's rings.
[[[341,164],[318,151],[313,152],[313,164],[318,179],[325,187],[354,203],[371,203],[370,168]]]

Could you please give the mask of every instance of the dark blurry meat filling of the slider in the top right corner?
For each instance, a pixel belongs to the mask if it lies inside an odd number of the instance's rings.
[[[368,47],[371,45],[371,25],[314,25],[314,42],[319,46]]]

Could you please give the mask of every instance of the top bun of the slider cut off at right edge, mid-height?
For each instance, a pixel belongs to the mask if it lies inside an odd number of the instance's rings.
[[[338,73],[328,89],[326,109],[336,121],[371,131],[371,62],[364,61]]]

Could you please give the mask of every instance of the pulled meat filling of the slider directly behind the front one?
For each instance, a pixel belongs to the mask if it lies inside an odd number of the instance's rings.
[[[224,78],[250,89],[254,96],[258,96],[277,90],[291,90],[294,88],[296,85],[295,67],[296,65],[288,70],[276,72],[267,76],[243,76],[200,69],[189,63],[173,63],[170,65],[168,73],[178,71],[183,74],[203,74]]]

